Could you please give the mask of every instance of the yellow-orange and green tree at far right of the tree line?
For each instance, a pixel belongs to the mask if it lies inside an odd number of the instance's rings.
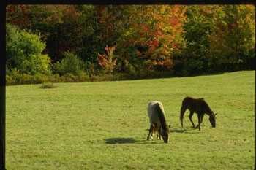
[[[255,7],[223,5],[220,8],[209,37],[212,63],[221,69],[248,68],[255,58]]]

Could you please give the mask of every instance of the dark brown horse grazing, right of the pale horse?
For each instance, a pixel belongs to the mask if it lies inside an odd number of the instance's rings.
[[[191,98],[191,97],[186,97],[182,101],[182,106],[181,106],[181,115],[180,115],[180,120],[181,120],[181,127],[183,128],[183,117],[184,113],[186,110],[189,109],[190,114],[189,114],[189,120],[193,125],[193,128],[198,128],[200,130],[200,124],[203,122],[203,115],[206,114],[209,116],[209,121],[211,123],[211,126],[213,128],[216,127],[216,114],[212,112],[211,108],[208,106],[206,101],[203,98]],[[197,113],[198,117],[198,125],[195,127],[195,124],[192,121],[192,116],[194,113]]]

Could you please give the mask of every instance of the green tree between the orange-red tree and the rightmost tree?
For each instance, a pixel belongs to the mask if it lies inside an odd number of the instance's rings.
[[[187,7],[187,22],[184,24],[184,39],[186,48],[183,53],[184,69],[189,74],[206,72],[209,63],[208,37],[214,30],[214,15],[217,6],[189,6]]]

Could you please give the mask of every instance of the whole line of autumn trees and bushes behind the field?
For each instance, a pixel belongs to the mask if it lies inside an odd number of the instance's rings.
[[[7,84],[252,69],[253,5],[9,5]]]

